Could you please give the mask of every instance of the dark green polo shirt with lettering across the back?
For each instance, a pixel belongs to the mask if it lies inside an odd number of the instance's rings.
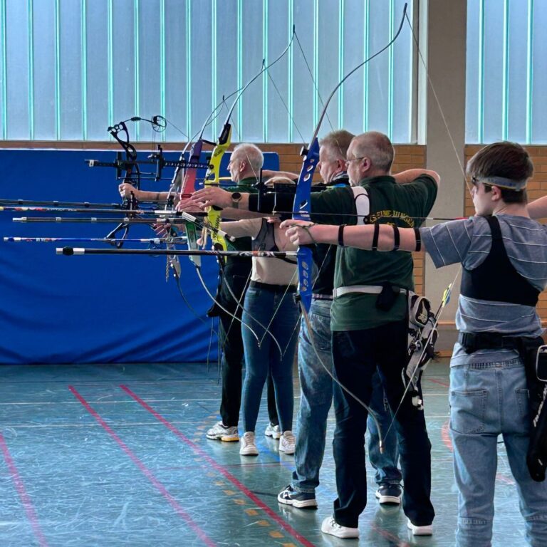
[[[370,222],[397,224],[401,228],[420,226],[437,197],[437,184],[426,174],[409,184],[397,184],[393,177],[382,176],[363,179],[359,185],[368,192]],[[311,211],[313,222],[357,224],[357,217],[352,216],[357,209],[350,187],[312,194]],[[408,252],[363,251],[339,246],[334,286],[381,285],[389,281],[394,286],[413,290],[413,266],[412,254]],[[330,311],[332,330],[375,328],[405,318],[406,296],[398,296],[390,311],[378,309],[376,299],[377,295],[365,293],[350,293],[335,298]]]

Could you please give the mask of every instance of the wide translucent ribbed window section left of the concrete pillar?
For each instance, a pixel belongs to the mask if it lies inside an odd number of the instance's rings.
[[[340,78],[390,41],[403,3],[0,0],[2,136],[104,140],[108,125],[161,114],[166,132],[132,125],[132,138],[187,140],[283,51],[294,24],[300,45],[249,86],[232,123],[234,140],[306,142]],[[338,91],[321,134],[374,128],[410,140],[412,55],[405,30]],[[224,105],[205,137],[218,136],[226,114]]]

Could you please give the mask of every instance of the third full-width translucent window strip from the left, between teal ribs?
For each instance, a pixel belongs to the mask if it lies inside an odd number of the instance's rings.
[[[83,135],[82,109],[82,9],[74,0],[60,0],[58,116],[59,138],[80,140]]]

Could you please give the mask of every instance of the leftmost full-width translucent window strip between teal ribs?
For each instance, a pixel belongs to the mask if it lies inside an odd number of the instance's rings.
[[[6,137],[31,138],[28,3],[6,0]]]

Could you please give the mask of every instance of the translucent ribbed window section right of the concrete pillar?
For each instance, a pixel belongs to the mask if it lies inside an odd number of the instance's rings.
[[[547,5],[468,0],[467,142],[547,142]]]

